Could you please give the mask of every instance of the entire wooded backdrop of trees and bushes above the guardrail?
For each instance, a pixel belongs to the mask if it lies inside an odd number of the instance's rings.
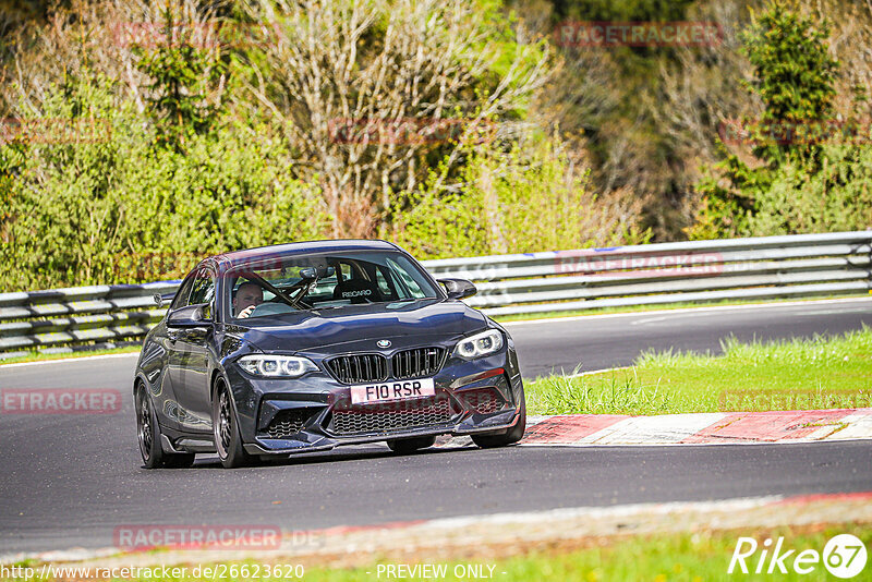
[[[0,16],[12,289],[175,277],[304,238],[426,258],[869,226],[867,3],[63,0]],[[565,21],[723,38],[566,46]],[[748,135],[719,141],[737,119]]]

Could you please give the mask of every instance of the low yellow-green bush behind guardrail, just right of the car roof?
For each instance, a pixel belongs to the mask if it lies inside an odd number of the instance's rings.
[[[529,253],[647,242],[639,201],[597,197],[564,144],[542,134],[508,151],[469,145],[459,189],[431,172],[410,195],[393,240],[426,258]],[[388,233],[386,233],[387,235]]]

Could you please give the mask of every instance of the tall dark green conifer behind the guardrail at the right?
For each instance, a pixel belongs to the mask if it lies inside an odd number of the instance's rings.
[[[697,184],[703,203],[697,225],[689,229],[692,239],[772,233],[773,220],[767,219],[768,227],[763,228],[755,217],[807,211],[797,202],[802,196],[773,196],[776,183],[782,192],[786,177],[796,172],[811,177],[823,168],[822,147],[828,136],[821,129],[833,117],[838,72],[838,62],[828,52],[828,24],[801,15],[786,0],[773,0],[759,16],[752,16],[742,34],[754,70],[748,89],[761,98],[764,111],[759,120],[743,120],[741,125],[754,144],[753,162],[728,154],[704,171]],[[790,182],[799,189],[804,185],[795,179]],[[821,202],[819,206],[826,206]],[[825,222],[785,219],[777,232],[806,231],[799,226],[802,222],[826,229]]]

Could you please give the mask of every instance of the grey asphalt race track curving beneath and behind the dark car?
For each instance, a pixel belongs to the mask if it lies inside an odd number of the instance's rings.
[[[621,366],[647,349],[872,325],[872,300],[512,324],[524,375]],[[119,414],[0,414],[0,556],[111,546],[132,524],[284,530],[643,501],[872,490],[868,441],[704,447],[339,449],[235,471],[146,471],[130,397],[135,356],[0,366],[2,389],[116,388]]]

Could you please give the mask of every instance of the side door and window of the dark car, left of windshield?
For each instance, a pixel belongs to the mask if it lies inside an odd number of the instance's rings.
[[[203,326],[170,329],[175,376],[172,385],[179,402],[179,424],[185,432],[211,432],[209,402],[209,343],[214,339],[213,306],[216,276],[209,268],[197,271],[185,305],[209,304]]]

